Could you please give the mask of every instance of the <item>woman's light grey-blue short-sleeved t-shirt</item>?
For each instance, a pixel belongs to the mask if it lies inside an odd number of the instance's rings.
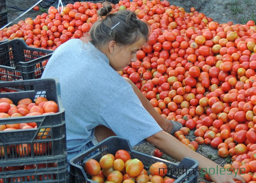
[[[142,106],[132,86],[90,42],[71,39],[60,45],[42,75],[49,77],[60,81],[68,161],[84,150],[98,125],[111,128],[132,146],[162,130]]]

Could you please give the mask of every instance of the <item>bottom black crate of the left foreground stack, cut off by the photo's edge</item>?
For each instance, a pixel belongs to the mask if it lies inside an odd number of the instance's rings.
[[[12,168],[8,169],[8,167]],[[25,170],[25,167],[31,169]],[[0,172],[0,182],[68,183],[67,156],[51,160],[0,165],[0,168],[5,170]]]

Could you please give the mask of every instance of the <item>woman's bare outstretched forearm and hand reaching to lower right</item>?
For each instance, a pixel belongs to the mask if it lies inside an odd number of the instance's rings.
[[[226,170],[226,172],[223,172],[224,169],[220,165],[191,150],[178,139],[164,131],[160,131],[148,137],[146,140],[166,155],[178,161],[181,161],[184,157],[196,159],[199,162],[198,168],[200,170],[211,170],[210,177],[215,183],[235,183],[233,179],[237,179],[245,183],[245,180],[240,175],[235,175],[234,173],[231,174],[231,172]],[[220,168],[222,168],[221,174]],[[213,169],[215,172],[218,171],[219,173],[213,173]]]

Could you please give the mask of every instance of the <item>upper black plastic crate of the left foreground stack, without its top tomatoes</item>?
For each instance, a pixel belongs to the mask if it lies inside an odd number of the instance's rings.
[[[48,161],[67,156],[65,113],[60,98],[58,80],[48,78],[1,82],[0,87],[24,87],[27,89],[26,91],[0,93],[0,98],[9,98],[15,105],[20,99],[30,98],[35,101],[40,96],[55,101],[59,106],[58,113],[1,118],[1,125],[36,122],[37,128],[0,131],[0,147],[1,152],[4,152],[0,153],[0,165]],[[22,146],[28,147],[21,148]]]

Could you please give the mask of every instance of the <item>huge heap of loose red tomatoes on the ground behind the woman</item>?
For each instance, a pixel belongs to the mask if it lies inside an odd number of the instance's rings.
[[[31,47],[54,50],[89,31],[101,6],[76,2],[61,14],[50,7],[48,14],[0,31],[0,40],[20,38]],[[159,114],[182,123],[175,133],[182,143],[192,150],[211,145],[220,157],[232,157],[225,167],[242,167],[247,182],[256,181],[254,21],[220,24],[166,0],[120,0],[113,8],[130,9],[151,27],[137,61],[119,74],[130,78]],[[190,130],[195,139],[186,137]]]

